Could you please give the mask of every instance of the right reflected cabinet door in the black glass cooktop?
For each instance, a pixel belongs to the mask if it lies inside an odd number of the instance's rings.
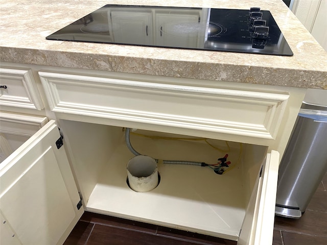
[[[156,44],[174,47],[197,46],[199,17],[199,13],[156,13]]]

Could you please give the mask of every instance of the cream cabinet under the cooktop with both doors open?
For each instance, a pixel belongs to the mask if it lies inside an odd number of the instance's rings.
[[[13,244],[31,244],[41,228],[34,243],[60,244],[84,209],[239,244],[272,240],[279,155],[305,89],[31,68],[57,122],[50,120],[0,164],[1,214],[8,225],[2,229],[13,233]],[[56,124],[63,135],[59,149]],[[125,128],[136,130],[131,142],[144,155],[216,164],[227,153],[230,167],[217,175],[210,167],[159,161],[159,185],[134,192],[127,184],[126,163],[133,154]],[[49,144],[38,144],[42,138]],[[20,160],[23,153],[26,160]],[[25,193],[20,186],[28,186]],[[28,216],[19,202],[9,208],[30,192],[37,198]],[[61,213],[58,220],[52,219],[53,209]],[[41,220],[22,234],[34,216]],[[45,218],[51,222],[45,225]]]

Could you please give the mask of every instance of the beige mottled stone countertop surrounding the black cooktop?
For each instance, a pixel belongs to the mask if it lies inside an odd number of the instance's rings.
[[[206,79],[327,89],[327,53],[282,0],[257,0],[270,10],[294,56],[141,47],[46,40],[45,37],[106,4],[249,9],[250,0],[3,0],[0,60]]]

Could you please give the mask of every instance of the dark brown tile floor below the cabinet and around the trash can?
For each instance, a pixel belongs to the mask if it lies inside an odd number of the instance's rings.
[[[236,244],[236,242],[85,212],[64,243],[64,245],[75,244],[219,245]],[[300,219],[275,217],[273,245],[294,244],[327,244],[327,174]]]

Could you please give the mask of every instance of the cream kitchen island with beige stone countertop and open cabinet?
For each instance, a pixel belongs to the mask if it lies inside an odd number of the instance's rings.
[[[271,240],[279,154],[307,88],[327,89],[326,52],[277,0],[256,5],[271,11],[291,57],[45,40],[105,4],[1,4],[6,14],[0,17],[0,74],[6,88],[0,119],[2,128],[8,124],[2,140],[10,146],[10,135],[31,134],[22,130],[30,125],[40,128],[16,151],[2,147],[2,242],[60,244],[84,209],[239,244]],[[110,4],[253,7],[250,1],[223,0]],[[16,124],[21,127],[10,128]],[[219,154],[228,152],[231,169],[219,176],[159,161],[157,188],[134,192],[126,184],[125,166],[133,156],[125,147],[126,127],[149,136],[149,142],[133,143],[158,159],[203,157],[216,164],[218,157],[203,143],[159,142],[158,135],[213,141],[223,149]]]

